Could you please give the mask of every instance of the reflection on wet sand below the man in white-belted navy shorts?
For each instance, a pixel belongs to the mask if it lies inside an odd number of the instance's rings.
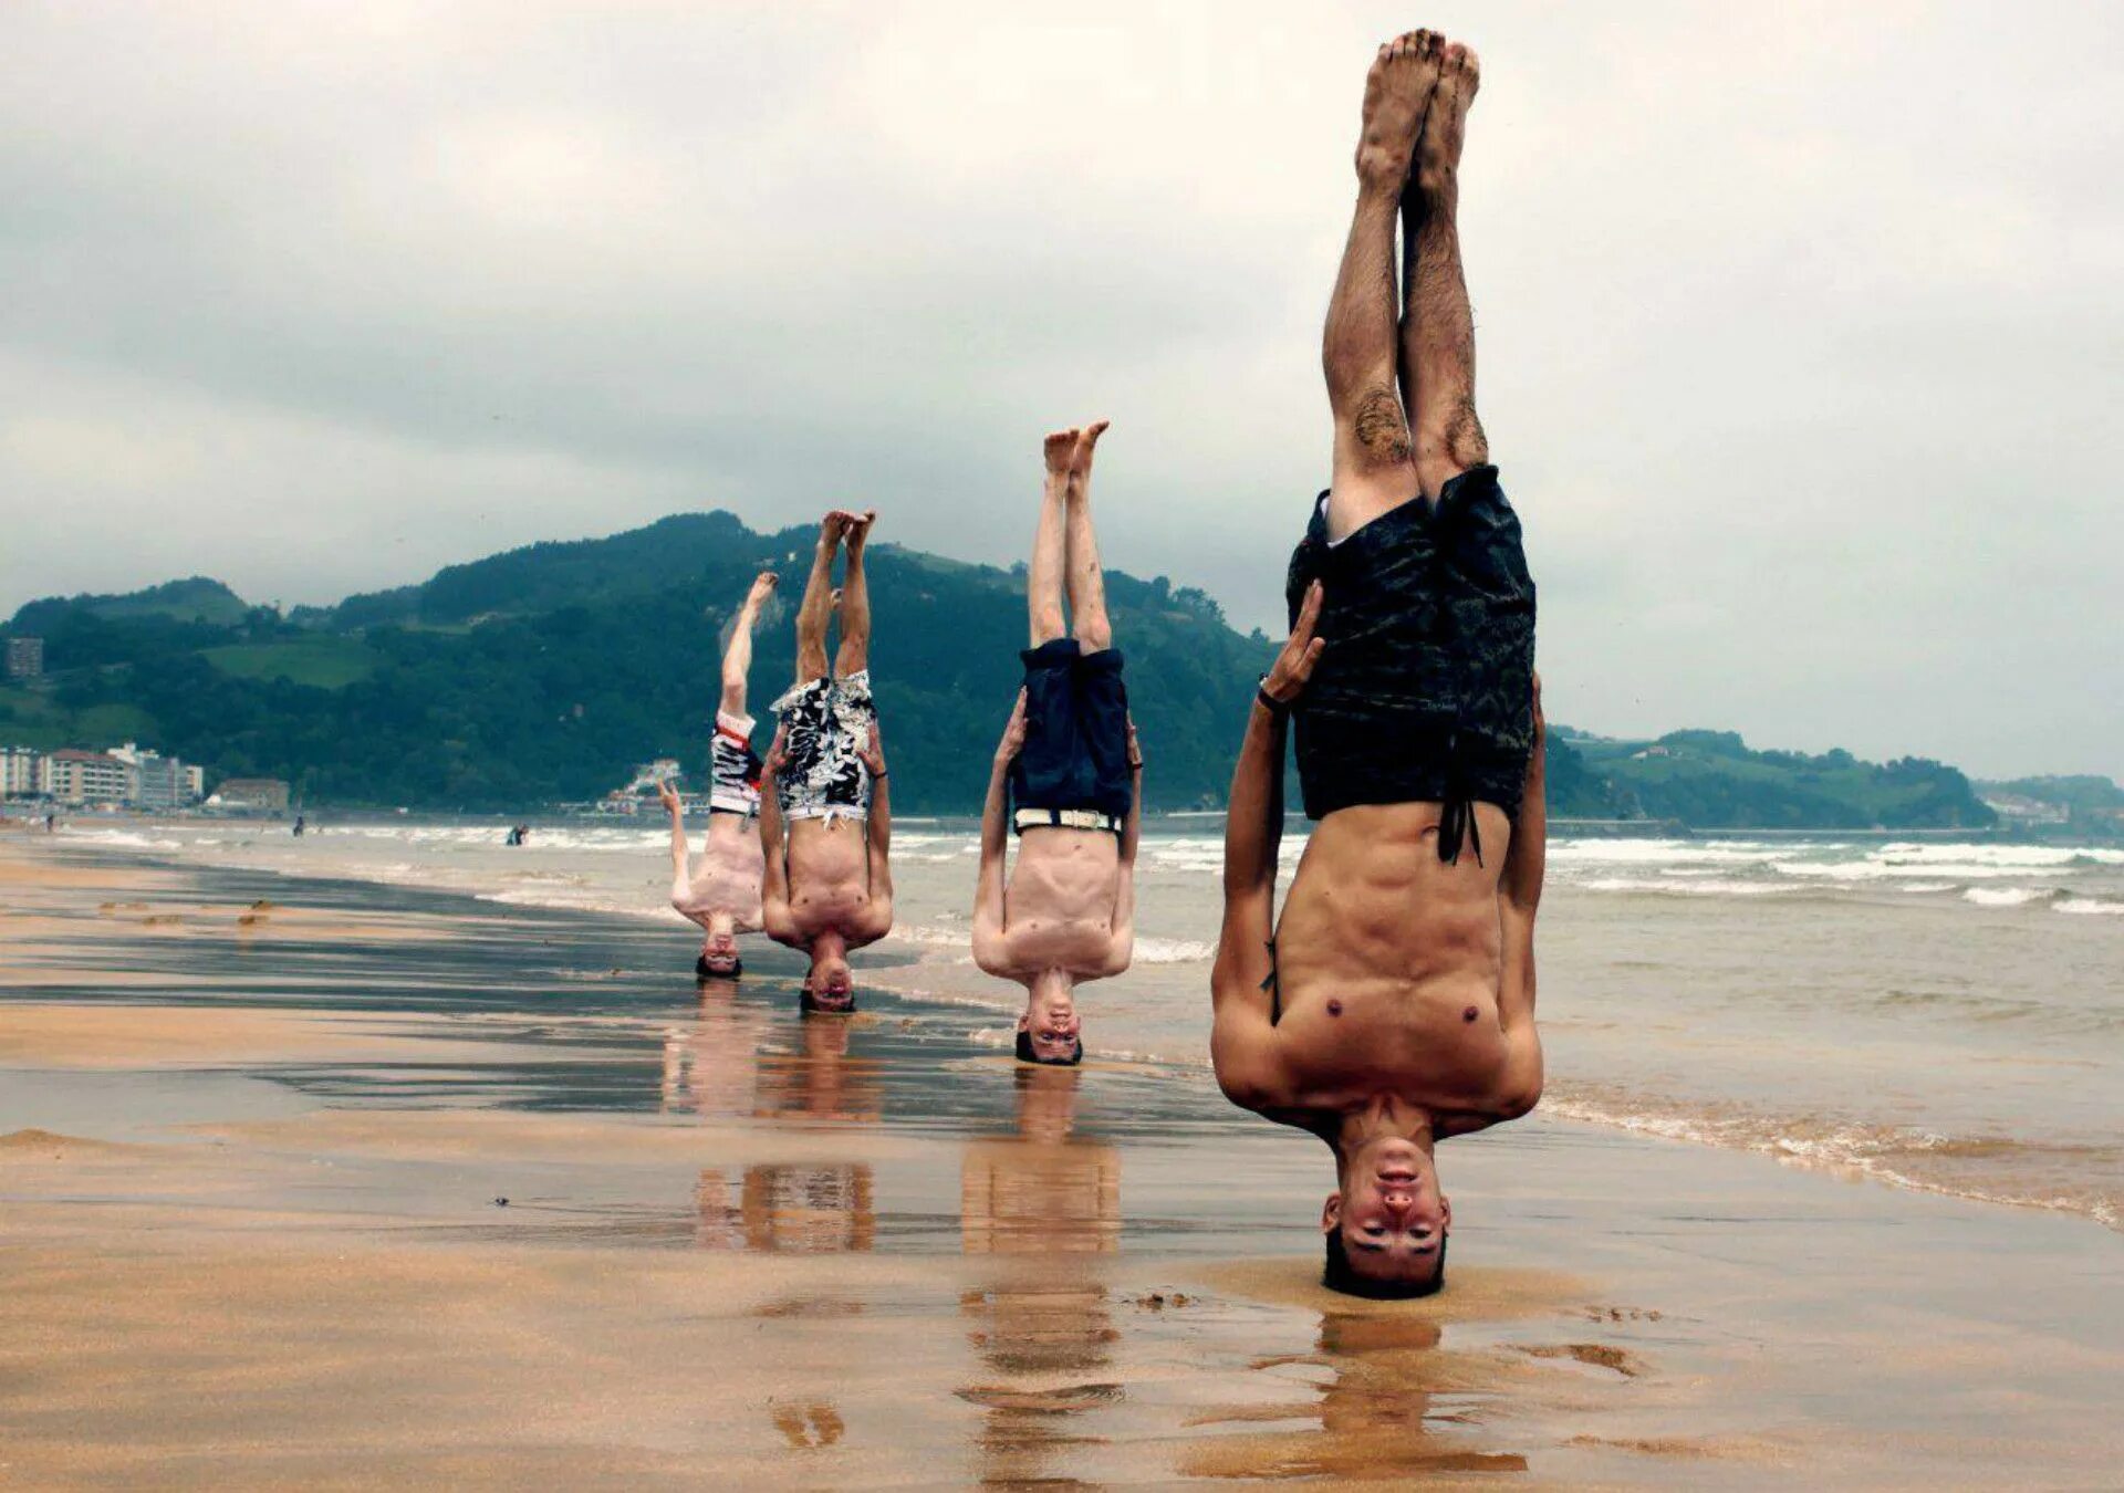
[[[1119,1336],[1087,1255],[1121,1238],[1121,1155],[1070,1138],[1079,1075],[1017,1068],[1017,1136],[975,1140],[960,1172],[960,1240],[996,1255],[992,1285],[969,1291],[966,1340],[990,1370],[958,1391],[988,1410],[977,1442],[983,1482],[1066,1482],[1047,1468],[1066,1446],[1096,1442],[1075,1421],[1121,1400],[1087,1383]]]

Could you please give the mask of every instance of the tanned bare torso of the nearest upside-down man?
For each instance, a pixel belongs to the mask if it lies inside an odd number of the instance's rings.
[[[1393,1094],[1446,1130],[1514,1111],[1497,1013],[1512,824],[1487,803],[1476,816],[1483,860],[1463,847],[1455,864],[1438,858],[1436,803],[1359,805],[1315,826],[1277,926],[1281,1015],[1255,1109],[1308,1123]]]

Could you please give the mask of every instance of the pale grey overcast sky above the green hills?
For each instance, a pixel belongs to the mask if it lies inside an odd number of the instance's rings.
[[[1009,563],[1111,416],[1109,563],[1281,633],[1415,23],[1551,714],[2124,775],[2107,4],[13,0],[0,616],[686,508]]]

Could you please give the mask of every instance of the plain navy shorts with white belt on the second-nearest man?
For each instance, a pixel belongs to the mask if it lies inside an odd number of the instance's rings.
[[[1075,637],[1056,637],[1017,656],[1026,663],[1026,745],[1011,762],[1011,803],[1126,820],[1134,784],[1121,650],[1087,654]]]

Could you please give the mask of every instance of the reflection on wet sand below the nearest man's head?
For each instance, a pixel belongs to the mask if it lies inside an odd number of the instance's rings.
[[[1525,1472],[1527,1459],[1485,1453],[1453,1434],[1476,1423],[1474,1404],[1495,1374],[1440,1349],[1442,1327],[1410,1308],[1325,1312],[1315,1353],[1272,1357],[1257,1370],[1323,1368],[1317,1400],[1249,1406],[1198,1425],[1317,1421],[1317,1429],[1232,1436],[1185,1463],[1196,1478],[1412,1478],[1440,1472]]]

